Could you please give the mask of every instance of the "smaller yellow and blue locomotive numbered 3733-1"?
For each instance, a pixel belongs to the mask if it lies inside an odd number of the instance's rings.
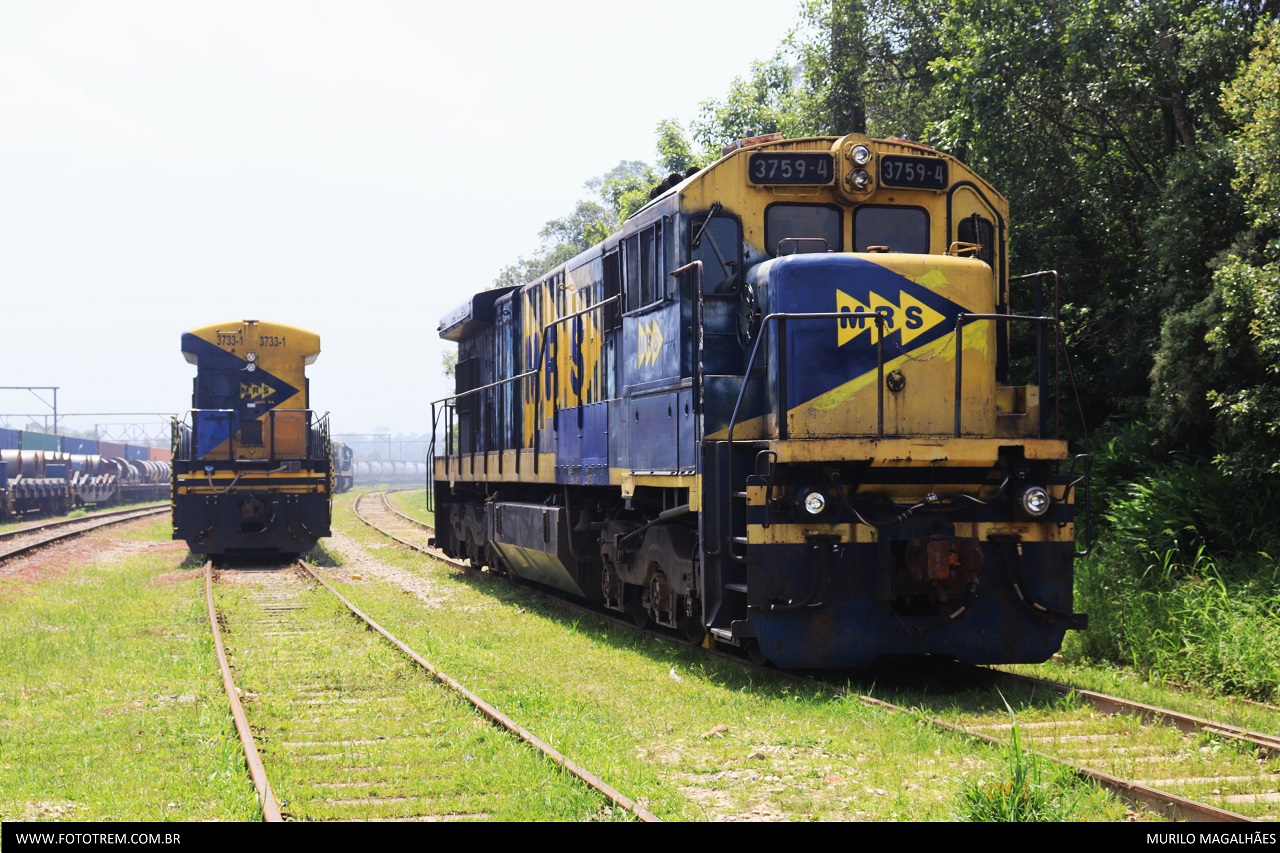
[[[192,410],[173,424],[173,538],[196,553],[297,555],[329,535],[328,415],[308,409],[314,332],[244,320],[193,329]]]

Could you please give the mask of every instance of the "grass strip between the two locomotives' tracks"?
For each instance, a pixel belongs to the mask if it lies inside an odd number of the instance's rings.
[[[408,507],[411,496],[397,496]],[[966,820],[963,792],[1020,766],[920,720],[717,662],[544,596],[410,552],[362,525],[335,526],[416,594],[361,573],[325,544],[344,594],[442,670],[664,820]],[[356,576],[358,575],[358,580]],[[1069,784],[1053,777],[1046,783]],[[1079,788],[1059,820],[1123,820]]]

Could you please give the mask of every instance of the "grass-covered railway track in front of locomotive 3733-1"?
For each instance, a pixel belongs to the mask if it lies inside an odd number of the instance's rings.
[[[205,571],[215,644],[221,649],[225,634],[224,680],[265,820],[602,820],[623,812],[657,820],[438,671],[306,564],[223,569],[216,597],[211,564]]]

